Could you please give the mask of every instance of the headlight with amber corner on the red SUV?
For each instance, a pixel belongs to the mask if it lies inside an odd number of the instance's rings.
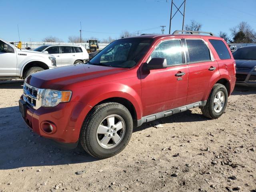
[[[54,107],[60,102],[69,102],[72,95],[72,91],[56,91],[46,89],[42,96],[42,106]]]

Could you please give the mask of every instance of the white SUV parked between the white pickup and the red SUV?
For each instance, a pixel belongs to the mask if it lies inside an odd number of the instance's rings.
[[[89,59],[88,52],[80,45],[43,45],[34,51],[54,55],[57,67],[85,63]]]

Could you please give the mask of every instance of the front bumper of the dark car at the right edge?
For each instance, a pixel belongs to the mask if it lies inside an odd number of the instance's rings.
[[[256,71],[236,71],[236,84],[243,86],[256,86]]]

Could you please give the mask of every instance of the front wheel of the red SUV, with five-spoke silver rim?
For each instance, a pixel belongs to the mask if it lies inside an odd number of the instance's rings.
[[[132,129],[132,116],[125,106],[112,102],[100,104],[84,120],[80,143],[95,158],[112,157],[126,147]]]

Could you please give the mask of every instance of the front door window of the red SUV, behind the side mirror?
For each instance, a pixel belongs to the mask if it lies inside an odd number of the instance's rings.
[[[152,52],[150,60],[152,58],[165,58],[168,66],[182,64],[183,52],[181,41],[167,40],[160,43],[157,48]]]

